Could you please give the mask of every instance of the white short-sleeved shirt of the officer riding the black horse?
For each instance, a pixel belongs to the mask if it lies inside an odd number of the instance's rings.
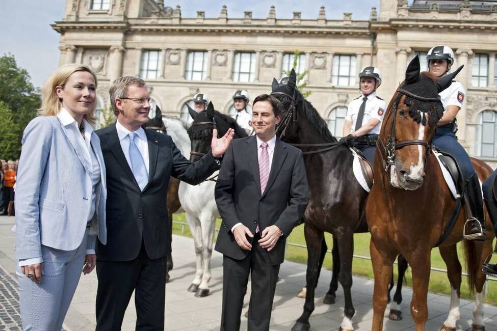
[[[355,124],[357,121],[357,116],[359,115],[359,108],[362,104],[363,94],[360,95],[357,99],[352,100],[347,107],[347,115],[345,119],[347,121],[352,122],[350,133],[355,131]],[[369,122],[370,119],[375,118],[380,121],[368,134],[378,134],[380,133],[381,120],[383,116],[385,116],[386,104],[385,100],[380,99],[376,96],[376,93],[373,92],[367,96],[368,100],[366,101],[366,107],[364,109],[364,116],[362,118],[362,125]]]

